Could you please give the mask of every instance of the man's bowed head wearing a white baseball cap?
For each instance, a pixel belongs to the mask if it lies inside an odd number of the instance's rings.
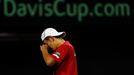
[[[63,40],[65,37],[65,32],[58,32],[54,28],[46,28],[41,34],[41,40],[43,43],[47,44],[50,48],[56,49],[59,41]]]

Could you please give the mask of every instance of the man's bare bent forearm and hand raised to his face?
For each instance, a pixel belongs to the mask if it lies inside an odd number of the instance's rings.
[[[46,62],[47,66],[53,66],[56,61],[54,58],[48,53],[48,45],[41,45],[40,46],[44,61]]]

